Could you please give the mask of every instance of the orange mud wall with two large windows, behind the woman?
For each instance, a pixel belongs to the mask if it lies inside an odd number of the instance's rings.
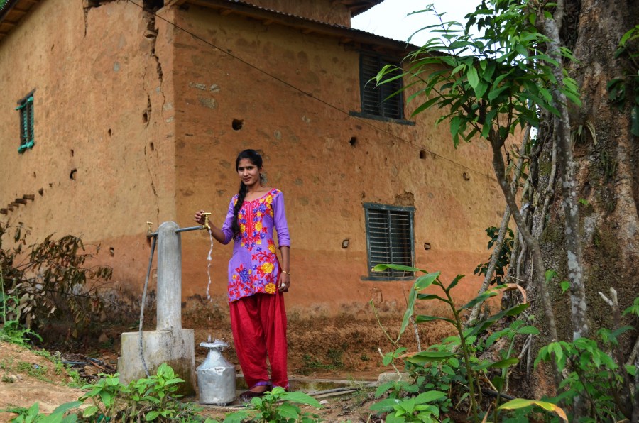
[[[256,148],[264,153],[268,184],[285,194],[289,309],[358,314],[375,298],[403,310],[410,283],[362,280],[364,202],[414,205],[417,265],[442,270],[444,280],[469,275],[458,295],[476,293],[473,270],[488,258],[484,229],[498,225],[503,213],[487,144],[455,150],[447,126],[435,128],[437,110],[420,114],[415,126],[349,116],[361,110],[359,51],[335,39],[197,7],[176,18],[206,40],[175,33],[181,226],[197,209],[222,224],[239,186],[236,155]],[[209,238],[204,231],[186,234],[182,248],[183,295],[204,296]],[[211,292],[220,304],[231,251],[214,245]]]

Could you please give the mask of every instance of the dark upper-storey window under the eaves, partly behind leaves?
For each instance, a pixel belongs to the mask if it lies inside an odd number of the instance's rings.
[[[400,93],[387,99],[388,96],[402,88],[402,79],[395,79],[386,84],[381,84],[379,87],[376,86],[374,79],[371,81],[371,78],[376,77],[381,68],[386,65],[399,67],[400,63],[387,60],[378,55],[367,53],[359,55],[361,112],[362,114],[390,119],[404,119],[402,94]],[[388,78],[399,74],[400,70],[396,70],[393,74],[389,74]]]

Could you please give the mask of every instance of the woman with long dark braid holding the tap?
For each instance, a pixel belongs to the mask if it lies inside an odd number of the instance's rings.
[[[261,155],[256,150],[242,151],[235,169],[241,180],[239,192],[231,198],[222,229],[210,226],[220,243],[235,241],[229,261],[229,308],[235,349],[250,387],[241,399],[249,400],[271,386],[288,389],[283,292],[290,286],[290,239],[283,194],[266,187]],[[198,224],[204,224],[202,213],[204,210],[195,213]],[[282,263],[275,254],[273,228],[278,233]]]

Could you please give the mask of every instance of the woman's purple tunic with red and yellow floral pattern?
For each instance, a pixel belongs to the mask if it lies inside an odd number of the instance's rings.
[[[237,194],[229,203],[229,212],[222,225],[226,236],[224,244],[233,238],[231,224],[236,202]],[[234,238],[233,257],[229,261],[229,302],[257,293],[275,294],[280,263],[275,254],[273,228],[278,233],[279,246],[290,246],[284,194],[279,189],[271,189],[263,197],[244,200],[237,223],[240,233]]]

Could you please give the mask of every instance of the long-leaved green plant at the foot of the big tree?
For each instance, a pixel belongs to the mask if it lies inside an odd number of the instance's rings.
[[[516,285],[498,285],[493,289],[476,296],[471,301],[458,306],[452,298],[452,290],[463,278],[463,275],[457,275],[449,284],[444,284],[439,279],[439,272],[428,273],[427,270],[413,268],[404,265],[382,264],[376,265],[373,271],[383,271],[386,269],[403,270],[407,272],[423,273],[413,283],[408,295],[408,307],[403,317],[397,341],[403,335],[406,327],[414,320],[419,324],[422,322],[442,321],[454,326],[457,334],[444,339],[442,344],[435,344],[427,348],[426,351],[417,353],[404,353],[404,348],[398,348],[394,353],[387,354],[384,363],[389,364],[395,358],[401,358],[405,361],[407,368],[410,370],[415,383],[391,382],[382,385],[377,395],[388,392],[388,400],[383,400],[371,407],[371,410],[377,412],[388,412],[391,416],[390,421],[395,422],[413,422],[417,418],[423,421],[431,421],[430,419],[439,419],[439,410],[447,411],[453,402],[459,404],[464,400],[469,401],[469,414],[471,419],[479,421],[482,411],[479,402],[482,397],[483,385],[488,383],[491,388],[496,390],[497,398],[493,410],[506,410],[509,405],[500,405],[500,395],[506,388],[505,381],[508,379],[508,368],[516,365],[519,360],[512,356],[514,352],[515,336],[538,334],[537,329],[533,326],[526,325],[523,321],[515,320],[509,326],[503,329],[493,331],[490,336],[484,336],[491,326],[501,322],[503,319],[512,319],[518,317],[525,309],[528,309],[528,302],[517,304],[508,309],[487,317],[481,322],[477,322],[474,326],[464,328],[463,314],[474,307],[481,304],[488,298],[499,295],[504,290],[520,290]],[[422,293],[429,287],[439,288],[443,294]],[[415,315],[415,306],[417,300],[437,301],[446,304],[450,310],[452,317],[432,316],[427,314]],[[486,348],[493,346],[498,339],[504,339],[507,348],[503,348],[496,359],[478,358],[478,353]],[[397,342],[395,341],[395,342]],[[493,375],[489,371],[497,372]],[[461,388],[461,389],[460,389]],[[454,397],[455,401],[452,401]],[[430,402],[437,402],[434,407]],[[515,405],[521,404],[515,403]],[[528,403],[532,406],[532,402]],[[545,405],[549,409],[558,413],[562,413],[556,405],[546,402],[539,402],[537,405]],[[437,410],[437,411],[435,411]],[[418,417],[419,416],[419,417]],[[386,419],[388,420],[388,416]],[[497,419],[497,415],[495,415]]]

